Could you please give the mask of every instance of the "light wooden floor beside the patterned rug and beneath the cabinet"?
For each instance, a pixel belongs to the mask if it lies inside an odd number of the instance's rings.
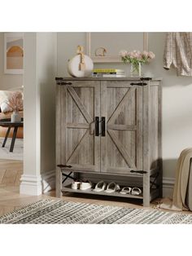
[[[55,191],[47,192],[41,196],[20,195],[20,176],[22,173],[22,161],[0,160],[0,216],[43,198],[55,198]],[[61,199],[65,201],[85,202],[90,204],[143,208],[141,201],[129,201],[128,203],[126,198],[116,198],[111,196],[66,193]],[[156,205],[159,204],[159,201],[160,200],[153,201],[150,208],[155,208]]]

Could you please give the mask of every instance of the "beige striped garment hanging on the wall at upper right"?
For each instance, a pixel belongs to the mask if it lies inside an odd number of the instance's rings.
[[[167,33],[164,47],[164,68],[173,65],[178,76],[192,76],[192,33]]]

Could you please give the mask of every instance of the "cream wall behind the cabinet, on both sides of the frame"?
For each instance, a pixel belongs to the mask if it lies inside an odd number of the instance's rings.
[[[164,179],[172,179],[181,150],[192,146],[192,77],[177,77],[173,68],[164,70],[164,37],[165,33],[149,33],[149,50],[154,51],[156,57],[144,70],[163,77]],[[58,34],[59,77],[68,76],[66,63],[76,55],[76,46],[80,44],[85,46],[85,33]],[[95,64],[94,67],[124,68],[126,73],[129,70],[129,65],[124,64]]]

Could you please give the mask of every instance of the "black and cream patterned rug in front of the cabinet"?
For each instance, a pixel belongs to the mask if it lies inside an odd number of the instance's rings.
[[[58,200],[41,200],[0,217],[0,223],[191,224],[192,215]]]

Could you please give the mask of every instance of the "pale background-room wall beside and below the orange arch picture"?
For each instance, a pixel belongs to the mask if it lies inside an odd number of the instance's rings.
[[[0,90],[8,90],[23,85],[23,75],[4,73],[4,33],[0,33]]]

